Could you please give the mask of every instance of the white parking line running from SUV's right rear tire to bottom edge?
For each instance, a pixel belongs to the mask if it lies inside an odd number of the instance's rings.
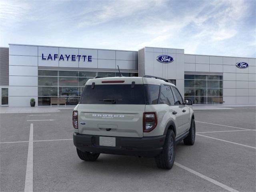
[[[196,172],[196,171],[194,171],[194,170],[192,170],[192,169],[190,169],[188,167],[185,167],[185,166],[183,166],[183,165],[181,165],[179,163],[174,162],[174,165],[176,165],[176,166],[178,166],[178,167],[180,167],[180,168],[182,168],[182,169],[184,169],[184,170],[186,170],[186,171],[188,171],[188,172],[190,172],[192,174],[195,174],[196,176],[198,176],[200,178],[203,178],[203,179],[205,179],[205,180],[207,180],[207,181],[209,181],[209,182],[211,182],[211,183],[213,183],[213,184],[215,184],[217,186],[220,186],[221,188],[226,189],[226,190],[228,190],[230,192],[238,192],[237,190],[235,190],[235,189],[233,189],[233,188],[231,188],[229,186],[226,186],[226,185],[224,185],[224,184],[222,184],[222,183],[220,183],[220,182],[218,182],[218,181],[216,181],[216,180],[214,180],[214,179],[212,179],[210,177],[207,177],[207,176],[205,176],[205,175],[203,175],[203,174],[201,174],[199,172]]]

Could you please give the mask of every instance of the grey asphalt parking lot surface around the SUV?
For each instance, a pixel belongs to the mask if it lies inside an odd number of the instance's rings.
[[[194,111],[196,142],[177,144],[171,170],[154,158],[100,154],[83,162],[72,110],[0,114],[0,191],[256,191],[256,109],[230,108]]]

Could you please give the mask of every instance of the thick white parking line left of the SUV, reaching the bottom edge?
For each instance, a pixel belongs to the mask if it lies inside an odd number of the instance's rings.
[[[24,192],[33,191],[33,124],[30,124]]]

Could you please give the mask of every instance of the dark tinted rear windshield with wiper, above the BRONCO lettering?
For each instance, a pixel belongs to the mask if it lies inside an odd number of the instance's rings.
[[[105,101],[104,101],[105,100]],[[80,104],[145,104],[143,84],[86,85]]]

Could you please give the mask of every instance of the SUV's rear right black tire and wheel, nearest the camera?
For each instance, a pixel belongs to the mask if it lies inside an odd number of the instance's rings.
[[[156,166],[161,169],[171,169],[175,159],[175,134],[168,130],[162,152],[155,157]]]

